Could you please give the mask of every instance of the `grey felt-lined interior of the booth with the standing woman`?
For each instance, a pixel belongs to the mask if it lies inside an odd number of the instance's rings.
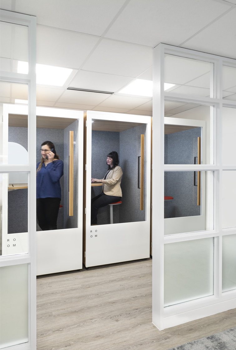
[[[73,216],[69,216],[69,135],[74,134],[74,167],[73,167],[73,188],[77,193],[78,186],[78,120],[72,118],[57,117],[36,117],[36,163],[41,160],[41,144],[44,141],[52,141],[59,158],[64,163],[64,175],[60,179],[61,185],[61,208],[59,209],[57,228],[77,228],[77,196],[73,196]],[[9,114],[8,116],[8,142],[18,144],[28,151],[28,116]],[[27,175],[27,174],[26,174]],[[27,180],[25,181],[27,182]],[[9,179],[9,183],[11,180]],[[20,180],[17,181],[20,183]],[[19,233],[28,231],[28,189],[17,189],[8,191],[8,233]],[[40,231],[38,223],[36,230]]]

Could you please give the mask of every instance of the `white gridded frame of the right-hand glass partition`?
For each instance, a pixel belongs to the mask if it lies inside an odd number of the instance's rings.
[[[214,98],[199,98],[198,96],[183,96],[164,92],[164,53],[197,58],[214,63]],[[227,62],[227,63],[226,63]],[[222,235],[235,233],[234,229],[222,229],[222,171],[235,170],[235,166],[222,166],[222,106],[234,106],[235,102],[225,103],[222,99],[222,64],[236,65],[235,60],[205,54],[193,50],[182,49],[170,45],[159,44],[154,49],[153,64],[153,323],[159,329],[213,315],[236,307],[236,290],[222,293]],[[214,81],[214,83],[213,83]],[[212,96],[212,94],[211,94]],[[210,165],[164,165],[164,99],[198,103],[214,106],[214,140],[211,140]],[[214,147],[213,147],[213,141]],[[214,150],[214,151],[213,151]],[[212,158],[214,156],[214,161]],[[164,232],[164,171],[188,170],[214,171],[214,230],[195,233],[184,233],[172,236]],[[156,223],[158,222],[158,225]],[[164,308],[164,244],[187,241],[192,239],[214,237],[214,295],[196,299],[179,305]]]

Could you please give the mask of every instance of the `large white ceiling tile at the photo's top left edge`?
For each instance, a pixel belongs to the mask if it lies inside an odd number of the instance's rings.
[[[16,12],[37,16],[45,26],[102,35],[126,0],[13,0]],[[12,10],[11,1],[1,8]]]

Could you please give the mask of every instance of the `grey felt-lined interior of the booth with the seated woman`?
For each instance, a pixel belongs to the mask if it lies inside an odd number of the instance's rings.
[[[92,120],[92,177],[103,179],[108,170],[107,155],[116,151],[123,175],[122,204],[113,206],[113,223],[146,221],[146,124],[112,120]],[[140,210],[141,135],[144,135],[144,191],[143,210]],[[91,197],[102,186],[91,187]],[[99,209],[97,224],[110,224],[109,206]]]

